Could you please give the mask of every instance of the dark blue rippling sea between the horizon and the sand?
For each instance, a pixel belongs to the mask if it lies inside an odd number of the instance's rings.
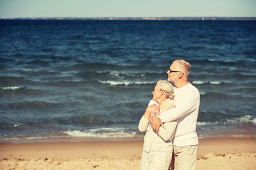
[[[174,60],[199,138],[256,137],[256,21],[0,20],[0,142],[142,140]]]

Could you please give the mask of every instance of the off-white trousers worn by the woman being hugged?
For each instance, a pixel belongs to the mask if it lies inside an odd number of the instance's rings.
[[[171,164],[172,152],[142,151],[141,170],[167,170]]]

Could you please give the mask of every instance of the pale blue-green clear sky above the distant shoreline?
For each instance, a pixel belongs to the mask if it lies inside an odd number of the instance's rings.
[[[256,0],[0,0],[0,18],[256,17]]]

